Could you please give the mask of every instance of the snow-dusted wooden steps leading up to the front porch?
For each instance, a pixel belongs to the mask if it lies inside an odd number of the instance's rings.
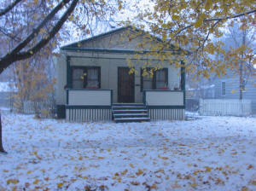
[[[149,121],[148,109],[143,103],[114,103],[113,120],[116,123]]]

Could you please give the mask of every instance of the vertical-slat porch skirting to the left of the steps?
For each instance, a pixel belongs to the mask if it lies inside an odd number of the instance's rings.
[[[112,120],[111,109],[66,109],[66,119],[74,122]]]

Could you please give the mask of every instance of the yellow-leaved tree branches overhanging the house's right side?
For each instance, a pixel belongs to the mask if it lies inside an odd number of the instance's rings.
[[[163,49],[187,49],[189,59],[183,51],[182,56],[170,62],[178,65],[180,61],[175,60],[183,60],[187,70],[204,78],[209,78],[210,72],[222,76],[230,67],[228,64],[232,64],[214,60],[215,56],[228,55],[222,40],[216,40],[223,36],[224,29],[234,21],[240,21],[244,28],[255,27],[256,3],[253,0],[154,0],[152,7],[145,7],[137,7],[137,27],[145,28],[162,40],[150,47],[159,52],[155,56],[161,58]],[[146,47],[150,41],[151,38],[145,38],[140,47]],[[251,62],[255,64],[255,58]]]

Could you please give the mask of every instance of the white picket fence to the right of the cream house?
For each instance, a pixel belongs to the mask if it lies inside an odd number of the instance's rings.
[[[252,114],[251,100],[200,100],[199,113],[212,116],[248,116]]]

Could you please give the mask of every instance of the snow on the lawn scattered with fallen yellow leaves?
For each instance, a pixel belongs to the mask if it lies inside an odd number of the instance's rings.
[[[3,115],[0,190],[256,190],[256,119],[67,123]]]

